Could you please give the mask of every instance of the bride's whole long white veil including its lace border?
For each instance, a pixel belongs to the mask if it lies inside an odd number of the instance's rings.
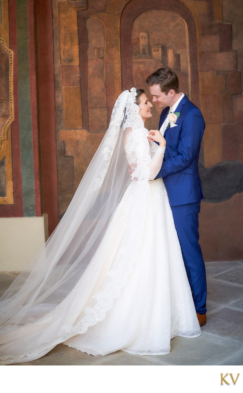
[[[103,291],[100,292],[97,286],[97,277],[89,277],[88,266],[95,259],[113,214],[131,182],[124,150],[126,129],[136,124],[136,127],[144,130],[135,96],[136,89],[132,88],[118,97],[110,126],[62,220],[35,259],[0,299],[2,364],[43,356],[58,343],[85,332],[89,326],[104,319],[106,311],[112,307],[113,300],[126,283],[139,247],[142,222],[139,229],[130,228],[129,231],[128,228],[127,254],[121,255],[123,263],[118,266],[117,275],[116,272],[104,273],[107,285]],[[144,134],[144,140],[146,138]],[[143,152],[141,165],[142,158]],[[139,165],[138,158],[133,177],[141,181],[141,200],[143,184],[146,184],[150,173],[144,178],[143,168]],[[133,214],[136,214],[136,206]],[[74,310],[77,299],[73,289],[80,283],[84,286],[82,315],[80,308],[76,314]],[[71,314],[68,310],[70,299],[73,299]],[[82,305],[81,300],[79,303]],[[26,335],[27,325],[29,330]]]

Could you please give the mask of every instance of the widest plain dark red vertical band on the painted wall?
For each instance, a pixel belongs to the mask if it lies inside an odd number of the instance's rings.
[[[37,0],[38,92],[43,212],[49,234],[58,224],[57,152],[51,0]]]

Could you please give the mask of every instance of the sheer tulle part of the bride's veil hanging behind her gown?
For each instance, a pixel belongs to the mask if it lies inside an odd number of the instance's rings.
[[[34,320],[33,310],[37,310],[38,317],[40,312],[47,315],[86,272],[131,182],[124,150],[124,123],[129,125],[132,119],[133,124],[143,127],[135,95],[132,88],[118,97],[110,126],[62,220],[0,299],[2,331],[13,331]]]

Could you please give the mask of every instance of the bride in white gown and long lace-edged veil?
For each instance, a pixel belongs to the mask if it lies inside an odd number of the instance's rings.
[[[1,364],[59,343],[164,355],[175,336],[200,336],[163,179],[153,180],[166,142],[144,127],[151,107],[144,90],[121,93],[64,217],[0,299]]]

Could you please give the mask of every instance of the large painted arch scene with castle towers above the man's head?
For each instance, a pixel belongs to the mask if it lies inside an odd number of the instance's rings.
[[[133,84],[144,88],[149,99],[151,97],[146,86],[146,77],[163,66],[175,70],[180,91],[190,99],[187,34],[184,20],[170,11],[145,11],[134,20],[131,37]],[[158,127],[160,113],[160,108],[154,105],[153,118],[146,123],[148,128]]]

